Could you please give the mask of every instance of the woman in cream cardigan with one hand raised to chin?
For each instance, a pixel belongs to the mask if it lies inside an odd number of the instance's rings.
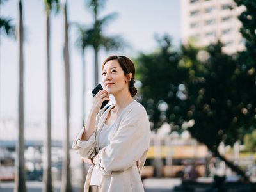
[[[73,148],[92,164],[84,191],[144,191],[140,170],[150,143],[150,124],[143,106],[136,102],[135,68],[125,56],[109,56],[102,65],[106,90],[94,97],[86,125]],[[109,94],[115,104],[100,110]]]

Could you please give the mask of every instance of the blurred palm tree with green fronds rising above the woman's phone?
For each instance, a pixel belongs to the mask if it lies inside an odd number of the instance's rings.
[[[98,18],[99,8],[104,6],[105,0],[90,0],[89,6],[93,10],[93,28],[90,30],[90,44],[93,47],[94,58],[95,58],[95,74],[94,81],[95,85],[99,83],[99,50],[105,48],[106,51],[119,49],[124,42],[120,36],[104,36],[102,33],[104,26],[109,20],[113,19],[116,14],[112,13],[106,15],[102,19]]]

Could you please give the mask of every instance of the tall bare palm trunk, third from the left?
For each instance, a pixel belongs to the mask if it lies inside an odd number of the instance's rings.
[[[72,191],[70,180],[70,156],[69,156],[69,116],[70,116],[70,64],[68,51],[68,20],[67,20],[67,1],[65,2],[65,43],[64,43],[64,63],[65,63],[65,95],[66,95],[66,135],[63,142],[63,168],[62,168],[62,192]]]

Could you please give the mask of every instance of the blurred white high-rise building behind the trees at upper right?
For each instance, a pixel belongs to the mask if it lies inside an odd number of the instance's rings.
[[[243,50],[241,22],[237,19],[241,12],[243,7],[237,7],[233,0],[181,0],[182,42],[193,38],[196,44],[205,46],[219,39],[223,52]]]

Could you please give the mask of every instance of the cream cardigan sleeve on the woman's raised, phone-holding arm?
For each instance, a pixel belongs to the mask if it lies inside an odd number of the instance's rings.
[[[95,123],[95,130],[97,128],[97,124],[99,123],[100,116],[104,113],[104,110],[100,110],[100,112],[96,116],[96,123]],[[92,136],[88,138],[88,140],[84,141],[81,140],[83,132],[85,131],[81,129],[81,131],[77,134],[76,138],[72,143],[72,148],[76,150],[81,157],[89,158],[94,156],[95,154],[95,131],[93,132]]]

